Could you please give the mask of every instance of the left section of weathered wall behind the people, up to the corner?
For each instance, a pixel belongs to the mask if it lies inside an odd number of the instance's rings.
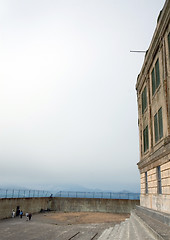
[[[0,219],[11,217],[12,209],[16,212],[17,206],[24,214],[37,213],[41,209],[50,209],[51,202],[51,198],[2,198],[0,199]]]

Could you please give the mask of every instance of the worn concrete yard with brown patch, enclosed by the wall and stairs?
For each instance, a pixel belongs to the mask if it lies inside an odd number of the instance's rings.
[[[0,240],[97,240],[102,232],[129,214],[47,212],[0,220]]]

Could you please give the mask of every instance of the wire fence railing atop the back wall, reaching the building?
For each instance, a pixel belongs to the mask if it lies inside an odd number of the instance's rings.
[[[60,191],[53,195],[54,197],[70,198],[103,198],[103,199],[130,199],[139,200],[140,193],[115,193],[115,192],[72,192]]]

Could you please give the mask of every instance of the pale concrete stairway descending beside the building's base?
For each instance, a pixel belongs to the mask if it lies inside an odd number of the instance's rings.
[[[170,226],[135,209],[130,218],[106,229],[98,240],[170,240]]]

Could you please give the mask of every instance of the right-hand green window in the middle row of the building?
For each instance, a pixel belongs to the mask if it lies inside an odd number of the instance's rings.
[[[163,137],[162,108],[154,116],[155,143]]]

